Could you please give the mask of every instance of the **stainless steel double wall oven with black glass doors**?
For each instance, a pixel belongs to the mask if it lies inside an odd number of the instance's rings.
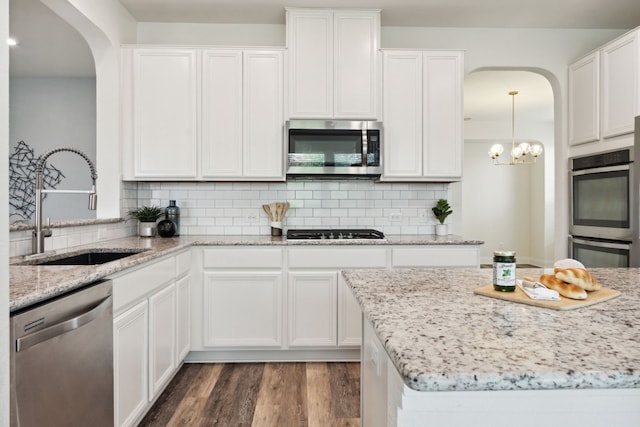
[[[587,267],[640,267],[634,147],[570,159],[570,256]]]

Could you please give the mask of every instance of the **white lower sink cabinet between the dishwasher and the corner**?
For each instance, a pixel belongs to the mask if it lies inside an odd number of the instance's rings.
[[[140,421],[190,351],[189,270],[187,250],[112,277],[117,426]]]

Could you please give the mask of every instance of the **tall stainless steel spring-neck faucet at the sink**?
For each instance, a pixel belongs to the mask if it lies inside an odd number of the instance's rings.
[[[89,169],[91,169],[91,190],[45,190],[44,189],[44,165],[47,159],[56,153],[61,151],[68,151],[70,153],[75,153],[78,156],[82,157],[89,164]],[[45,237],[51,237],[51,229],[48,228],[49,224],[47,223],[47,228],[42,227],[42,198],[46,193],[87,193],[89,194],[89,210],[96,210],[96,206],[98,204],[98,195],[96,194],[96,179],[98,179],[98,174],[96,172],[96,168],[93,165],[93,162],[89,157],[84,154],[82,151],[77,150],[75,148],[68,147],[60,147],[54,148],[46,152],[38,163],[36,164],[36,229],[33,231],[33,253],[41,254],[44,252],[44,239]]]

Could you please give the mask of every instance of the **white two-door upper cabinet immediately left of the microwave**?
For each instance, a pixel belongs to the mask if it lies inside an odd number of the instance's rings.
[[[203,52],[202,176],[284,179],[283,52]]]

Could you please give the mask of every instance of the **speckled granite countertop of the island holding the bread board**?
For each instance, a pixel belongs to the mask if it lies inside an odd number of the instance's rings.
[[[343,275],[412,389],[640,388],[640,269],[590,271],[621,295],[571,311],[473,294],[491,269]]]

